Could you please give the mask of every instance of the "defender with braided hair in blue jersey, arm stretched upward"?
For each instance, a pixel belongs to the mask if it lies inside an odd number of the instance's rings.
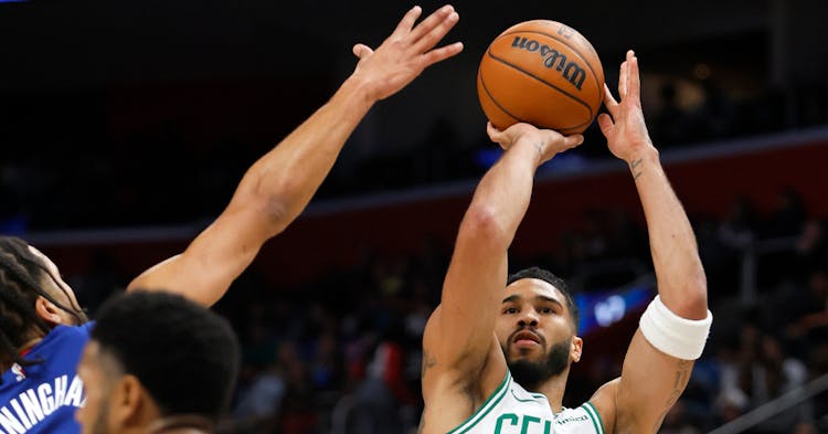
[[[146,271],[128,289],[167,289],[211,306],[265,241],[307,205],[371,106],[425,67],[463,50],[435,49],[457,23],[446,6],[414,25],[411,9],[374,51],[357,44],[354,72],[331,99],[245,173],[230,204],[187,250]],[[91,326],[57,267],[14,237],[0,237],[0,431],[74,433],[84,401],[75,368]]]

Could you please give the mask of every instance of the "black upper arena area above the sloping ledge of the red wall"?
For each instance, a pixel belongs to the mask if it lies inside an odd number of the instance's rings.
[[[438,3],[422,6],[428,13]],[[660,147],[825,120],[828,31],[818,0],[455,6],[461,18],[447,42],[465,51],[374,107],[320,198],[478,177],[478,154],[490,145],[477,63],[500,31],[529,19],[586,35],[612,87],[624,51],[637,50]],[[43,230],[216,215],[246,167],[350,74],[352,44],[378,45],[408,7],[0,3],[0,218]],[[666,84],[691,117],[678,131],[657,117]],[[595,128],[587,140],[581,154],[608,156]]]

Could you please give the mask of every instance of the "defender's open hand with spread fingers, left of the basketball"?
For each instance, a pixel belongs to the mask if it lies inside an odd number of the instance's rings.
[[[364,44],[353,45],[353,54],[360,59],[353,76],[370,86],[369,95],[374,99],[397,93],[429,65],[463,51],[460,42],[434,49],[459,20],[450,4],[414,27],[421,13],[418,6],[412,8],[376,50]]]

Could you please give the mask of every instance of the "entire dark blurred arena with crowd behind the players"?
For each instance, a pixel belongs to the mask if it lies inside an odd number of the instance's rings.
[[[661,432],[828,432],[828,6],[454,4],[447,42],[465,51],[372,109],[307,212],[215,307],[244,342],[224,431],[416,426],[418,334],[497,158],[477,63],[500,31],[544,18],[592,41],[611,87],[636,50],[651,135],[697,230],[716,321]],[[49,254],[94,313],[215,218],[247,166],[352,71],[352,44],[379,44],[410,6],[0,2],[0,232]],[[596,128],[541,169],[510,265],[581,290],[571,405],[617,374],[651,294],[643,231]],[[752,414],[763,421],[749,427]]]

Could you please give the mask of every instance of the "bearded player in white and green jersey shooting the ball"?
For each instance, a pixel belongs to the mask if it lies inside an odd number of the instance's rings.
[[[605,86],[598,118],[628,163],[649,230],[659,295],[640,320],[622,375],[575,409],[562,406],[581,359],[577,309],[566,285],[529,268],[507,280],[507,250],[529,205],[535,169],[581,144],[517,124],[488,127],[506,150],[460,224],[454,256],[423,338],[422,433],[655,433],[687,385],[711,324],[696,240],[649,140],[638,60],[620,66],[620,102]]]

